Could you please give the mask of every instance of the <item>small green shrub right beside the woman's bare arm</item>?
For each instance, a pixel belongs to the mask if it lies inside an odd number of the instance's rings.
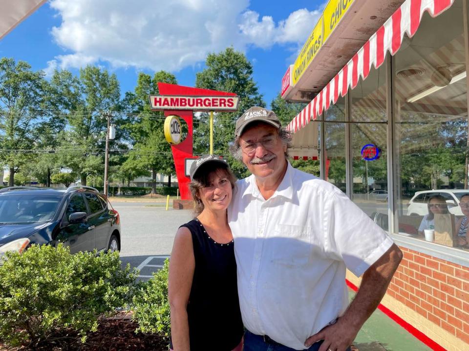
[[[171,332],[170,304],[168,302],[169,260],[161,270],[142,285],[133,297],[133,319],[138,323],[136,331],[157,333],[169,342]]]

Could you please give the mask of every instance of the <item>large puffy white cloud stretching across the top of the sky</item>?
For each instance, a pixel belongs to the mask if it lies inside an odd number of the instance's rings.
[[[113,67],[178,71],[227,46],[268,48],[302,44],[318,11],[291,13],[277,24],[248,9],[249,0],[51,0],[62,23],[55,41],[71,54],[48,62],[55,68],[107,61]]]

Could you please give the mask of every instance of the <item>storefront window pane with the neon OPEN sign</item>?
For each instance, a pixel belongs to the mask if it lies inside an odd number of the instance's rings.
[[[349,94],[353,201],[387,229],[386,63]]]

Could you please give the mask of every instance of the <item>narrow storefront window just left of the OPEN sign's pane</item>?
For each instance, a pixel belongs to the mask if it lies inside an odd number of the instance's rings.
[[[345,99],[324,112],[325,179],[345,193]]]

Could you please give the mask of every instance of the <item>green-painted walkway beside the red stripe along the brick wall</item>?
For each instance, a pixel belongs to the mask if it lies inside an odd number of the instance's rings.
[[[355,292],[349,289],[351,299]],[[431,351],[380,310],[363,324],[353,343],[359,351]]]

